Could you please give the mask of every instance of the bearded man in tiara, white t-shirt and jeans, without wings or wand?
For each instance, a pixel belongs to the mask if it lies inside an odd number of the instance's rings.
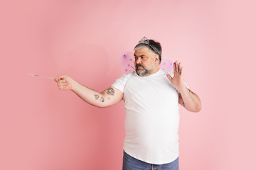
[[[178,103],[188,111],[201,110],[201,101],[183,81],[183,67],[159,69],[161,45],[146,37],[134,47],[135,72],[122,77],[102,93],[66,75],[55,78],[59,89],[72,90],[100,108],[124,100],[126,113],[123,170],[178,169]]]

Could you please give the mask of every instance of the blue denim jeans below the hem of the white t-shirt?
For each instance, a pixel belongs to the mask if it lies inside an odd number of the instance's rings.
[[[129,154],[124,152],[123,157],[123,168],[122,170],[178,170],[178,158],[169,164],[149,164],[146,162],[142,162],[134,157],[129,156]]]

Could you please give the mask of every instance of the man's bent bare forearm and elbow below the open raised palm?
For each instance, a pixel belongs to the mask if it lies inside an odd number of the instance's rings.
[[[183,87],[179,89],[178,103],[180,103],[184,108],[191,112],[201,111],[201,101],[200,98],[194,94],[190,89]]]

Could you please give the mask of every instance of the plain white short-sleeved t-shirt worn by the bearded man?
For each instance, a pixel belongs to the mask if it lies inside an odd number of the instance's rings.
[[[123,74],[112,84],[124,93],[124,151],[150,164],[167,164],[178,157],[178,91],[159,70],[147,77]]]

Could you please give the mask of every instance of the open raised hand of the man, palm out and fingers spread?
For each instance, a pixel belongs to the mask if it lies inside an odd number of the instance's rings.
[[[177,89],[185,86],[183,80],[183,67],[181,67],[181,63],[178,63],[178,61],[174,62],[174,77],[171,77],[169,74],[166,76],[171,81],[171,84],[173,84]]]

